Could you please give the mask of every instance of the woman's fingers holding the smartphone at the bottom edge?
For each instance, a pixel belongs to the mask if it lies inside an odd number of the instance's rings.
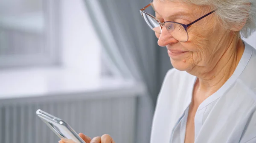
[[[94,137],[92,140],[90,137],[79,133],[79,137],[84,140],[85,143],[115,143],[110,135],[102,135],[102,137]],[[70,139],[61,139],[59,143],[75,143],[73,140]]]

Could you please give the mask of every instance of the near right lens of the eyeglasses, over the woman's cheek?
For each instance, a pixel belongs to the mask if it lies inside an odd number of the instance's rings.
[[[176,40],[180,42],[186,42],[188,40],[189,36],[183,25],[175,22],[165,22],[164,25],[169,34]]]

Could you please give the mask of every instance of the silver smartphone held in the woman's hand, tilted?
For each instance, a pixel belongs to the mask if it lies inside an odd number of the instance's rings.
[[[36,115],[41,118],[59,138],[72,139],[76,143],[85,143],[84,140],[63,120],[38,109]]]

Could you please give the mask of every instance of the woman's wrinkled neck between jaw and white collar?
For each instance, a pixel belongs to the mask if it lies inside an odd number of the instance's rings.
[[[199,92],[199,95],[202,94],[205,95],[205,97],[208,97],[220,89],[234,73],[244,52],[243,41],[240,38],[237,40],[235,39],[236,38],[233,38],[233,40],[231,40],[227,50],[212,70],[193,74],[198,77],[195,83],[194,92]]]

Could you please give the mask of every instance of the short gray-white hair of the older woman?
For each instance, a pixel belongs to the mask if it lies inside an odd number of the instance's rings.
[[[199,6],[212,6],[218,9],[217,16],[225,28],[230,25],[239,27],[247,19],[240,31],[247,38],[256,31],[256,0],[181,0]]]

